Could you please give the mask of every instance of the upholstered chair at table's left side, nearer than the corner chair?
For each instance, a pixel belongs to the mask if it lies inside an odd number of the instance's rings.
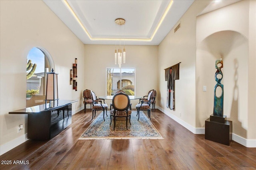
[[[108,116],[107,114],[108,105],[105,103],[105,99],[97,98],[97,96],[92,90],[91,90],[91,95],[92,95],[92,119],[95,118],[96,110],[103,110],[103,119],[105,121],[105,110],[106,110],[106,116]],[[94,113],[94,116],[93,116],[93,113]]]

